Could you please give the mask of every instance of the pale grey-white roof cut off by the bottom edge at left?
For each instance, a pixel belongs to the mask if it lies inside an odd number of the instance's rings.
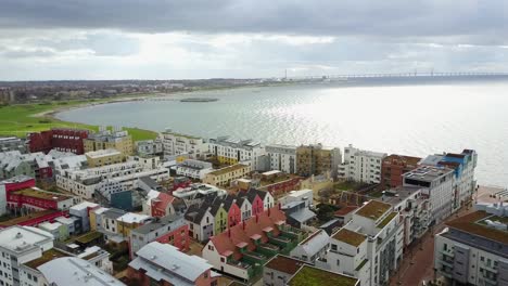
[[[125,286],[93,263],[77,257],[53,259],[38,268],[49,285]]]

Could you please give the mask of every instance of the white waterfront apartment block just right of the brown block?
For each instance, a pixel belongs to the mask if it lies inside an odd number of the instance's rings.
[[[340,179],[378,184],[381,182],[381,165],[386,153],[364,151],[350,146],[344,148],[344,161],[339,166]]]

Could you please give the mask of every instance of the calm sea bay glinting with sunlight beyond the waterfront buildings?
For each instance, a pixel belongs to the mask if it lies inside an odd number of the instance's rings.
[[[352,143],[415,156],[474,148],[479,183],[508,185],[507,91],[506,80],[245,88],[172,98],[219,99],[211,103],[114,103],[58,117],[263,143]]]

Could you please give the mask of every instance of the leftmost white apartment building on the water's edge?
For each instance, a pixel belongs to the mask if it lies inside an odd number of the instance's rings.
[[[202,138],[173,132],[170,129],[161,132],[158,140],[163,145],[164,157],[188,154],[190,158],[198,159],[208,151]]]

